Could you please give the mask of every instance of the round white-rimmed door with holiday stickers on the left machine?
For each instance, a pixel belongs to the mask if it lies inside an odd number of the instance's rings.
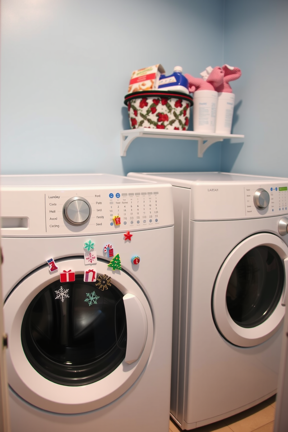
[[[91,267],[93,282],[84,281],[82,257],[57,267],[55,275],[47,266],[32,272],[5,302],[9,385],[43,410],[83,413],[116,400],[139,377],[152,348],[152,313],[135,280],[107,262]],[[71,269],[75,281],[61,283],[59,273]]]

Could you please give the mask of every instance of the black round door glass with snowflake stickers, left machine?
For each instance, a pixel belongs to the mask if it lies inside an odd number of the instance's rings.
[[[69,288],[63,302],[55,290]],[[85,302],[95,291],[97,304]],[[31,365],[50,381],[84,385],[109,375],[125,358],[127,344],[123,294],[113,284],[101,291],[95,283],[56,281],[32,300],[21,329],[22,346]]]

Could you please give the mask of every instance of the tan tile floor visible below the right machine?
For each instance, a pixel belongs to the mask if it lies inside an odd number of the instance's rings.
[[[256,407],[228,417],[212,425],[192,429],[195,432],[273,432],[276,396],[272,396]],[[170,420],[169,432],[181,429]],[[192,432],[191,431],[191,432]]]

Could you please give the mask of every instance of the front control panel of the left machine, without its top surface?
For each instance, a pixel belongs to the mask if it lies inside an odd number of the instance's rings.
[[[171,226],[171,190],[155,183],[33,192],[10,188],[9,193],[3,188],[2,235],[54,237]]]

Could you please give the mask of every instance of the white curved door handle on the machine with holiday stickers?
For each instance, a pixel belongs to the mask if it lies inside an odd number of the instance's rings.
[[[147,317],[142,303],[133,294],[123,296],[127,322],[126,363],[139,359],[147,339]]]

